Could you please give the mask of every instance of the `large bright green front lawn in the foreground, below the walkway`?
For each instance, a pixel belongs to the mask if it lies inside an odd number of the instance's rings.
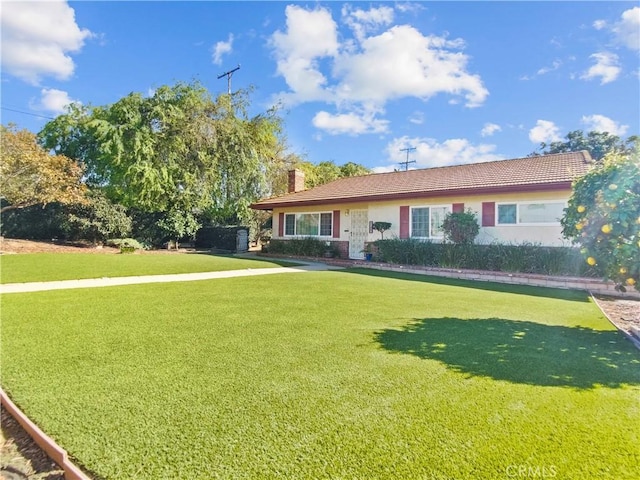
[[[637,478],[640,352],[586,294],[430,280],[4,295],[2,385],[98,478]]]

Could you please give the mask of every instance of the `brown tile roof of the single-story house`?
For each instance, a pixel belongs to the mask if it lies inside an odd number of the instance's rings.
[[[285,206],[569,188],[574,178],[587,172],[591,162],[589,153],[581,151],[374,173],[341,178],[309,190],[260,200],[251,207],[271,210]]]

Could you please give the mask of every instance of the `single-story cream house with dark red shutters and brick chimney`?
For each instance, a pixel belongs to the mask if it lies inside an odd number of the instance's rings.
[[[565,245],[560,218],[572,181],[585,174],[588,152],[348,177],[305,190],[304,174],[289,172],[289,193],[251,207],[273,212],[274,239],[317,237],[343,256],[363,258],[380,239],[373,222],[390,222],[385,238],[441,241],[448,212],[471,209],[477,243]]]

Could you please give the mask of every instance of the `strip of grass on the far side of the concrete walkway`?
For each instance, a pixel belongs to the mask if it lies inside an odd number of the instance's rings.
[[[3,255],[0,283],[269,268],[294,264],[208,254],[32,253]]]

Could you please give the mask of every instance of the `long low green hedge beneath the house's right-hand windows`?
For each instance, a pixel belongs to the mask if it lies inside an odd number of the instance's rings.
[[[497,272],[598,277],[580,251],[570,247],[544,247],[530,243],[468,245],[418,240],[378,240],[375,260],[436,268],[465,268]]]

